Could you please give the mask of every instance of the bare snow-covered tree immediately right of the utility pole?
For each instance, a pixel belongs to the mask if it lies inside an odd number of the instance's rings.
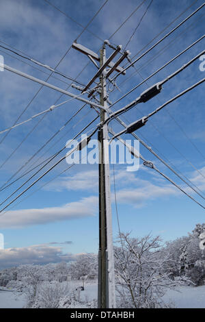
[[[165,272],[169,256],[161,248],[161,238],[150,235],[131,238],[121,234],[115,247],[115,276],[118,306],[123,308],[165,307],[162,296],[174,282]]]

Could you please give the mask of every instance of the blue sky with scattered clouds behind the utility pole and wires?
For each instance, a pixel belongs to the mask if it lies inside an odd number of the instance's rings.
[[[104,1],[100,0],[51,0],[51,4],[61,10],[59,12],[44,0],[1,0],[0,45],[52,68],[57,66],[57,70],[61,73],[74,79],[77,77],[79,82],[87,84],[96,73],[96,66],[86,55],[71,48],[74,40],[77,39],[79,44],[96,53],[106,39],[112,45],[122,45],[124,49],[141,21],[126,48],[131,51],[130,58],[135,59],[200,7],[203,1],[154,0],[150,4],[149,0],[143,3],[138,0],[108,0],[98,12],[103,3]],[[137,6],[139,6],[138,10],[128,18]],[[90,23],[96,12],[98,14]],[[112,103],[115,102],[202,37],[205,25],[204,14],[205,8],[202,8],[136,62],[135,69],[131,67],[126,71],[126,75],[120,75],[117,78],[119,90],[116,88],[112,90],[109,86],[111,90],[109,100]],[[122,25],[124,21],[126,22]],[[83,31],[88,23],[90,24],[87,29]],[[203,50],[204,39],[120,100],[113,106],[113,110],[123,108],[139,97],[149,86],[174,73]],[[113,49],[107,47],[107,56],[112,52]],[[14,69],[44,81],[49,77],[48,69],[2,47],[0,47],[0,55],[3,55],[5,64]],[[165,83],[159,95],[147,103],[140,103],[120,116],[122,120],[127,124],[132,123],[200,81],[205,75],[205,71],[200,70],[201,62],[198,59],[195,60],[187,69]],[[127,66],[126,61],[122,62],[122,66],[124,65]],[[71,87],[72,82],[61,75],[52,75],[48,82],[68,89],[74,95],[79,95],[79,91]],[[69,99],[68,96],[61,95],[51,88],[43,87],[39,90],[40,84],[9,71],[0,72],[1,131],[11,127],[24,110],[18,122],[27,120],[55,103]],[[83,95],[83,98],[86,99],[87,95]],[[44,114],[43,119],[41,119],[42,116],[38,116],[12,129],[7,136],[0,134],[1,186],[6,182],[14,181],[25,170],[52,156],[90,123],[96,116],[96,112],[90,106],[85,106],[66,127],[61,129],[81,106],[83,106],[82,102],[72,100]],[[136,132],[139,138],[152,147],[152,150],[163,160],[197,186],[201,194],[205,193],[204,116],[203,83],[156,113]],[[98,120],[83,134],[94,129],[97,124]],[[110,125],[115,132],[122,130],[122,126],[115,121]],[[43,147],[59,129],[61,129],[59,134],[46,147]],[[94,138],[96,139],[97,136],[95,135]],[[124,134],[122,138],[131,140],[132,136]],[[40,147],[43,148],[36,153]],[[67,151],[64,149],[59,153],[59,156],[38,175],[65,156]],[[29,161],[35,153],[36,156]],[[188,188],[142,145],[140,145],[140,153],[205,206],[202,197]],[[25,167],[20,169],[21,166]],[[146,234],[160,235],[165,243],[167,240],[173,240],[191,232],[195,224],[204,223],[204,209],[153,169],[146,168],[141,161],[137,171],[128,172],[126,166],[126,164],[115,164],[113,169],[113,164],[110,164],[114,242],[119,230],[113,173],[115,173],[116,201],[122,232],[131,232],[131,236],[135,237]],[[74,260],[81,253],[97,253],[98,165],[75,164],[60,175],[67,167],[68,164],[64,160],[27,193],[14,201],[5,213],[0,213],[0,233],[3,234],[5,243],[5,249],[0,249],[0,269],[25,263],[45,264],[69,261]],[[14,199],[17,193],[5,203],[3,201],[33,173],[34,171],[18,179],[5,190],[0,189],[1,209]],[[29,186],[38,175],[25,184],[24,188]],[[23,188],[18,193],[21,191]]]

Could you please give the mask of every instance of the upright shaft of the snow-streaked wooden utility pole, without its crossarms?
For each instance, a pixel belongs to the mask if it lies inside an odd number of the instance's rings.
[[[105,44],[100,50],[100,67],[106,62]],[[107,108],[106,69],[100,75],[100,104]],[[107,112],[100,110],[100,121]],[[98,252],[98,308],[115,308],[115,272],[111,219],[111,192],[109,179],[108,127],[98,131],[99,142],[99,252]]]

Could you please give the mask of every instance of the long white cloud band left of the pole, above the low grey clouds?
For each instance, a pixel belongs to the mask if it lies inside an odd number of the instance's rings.
[[[27,227],[94,216],[97,201],[97,197],[87,197],[82,198],[80,201],[67,203],[61,207],[9,211],[0,217],[1,229]]]

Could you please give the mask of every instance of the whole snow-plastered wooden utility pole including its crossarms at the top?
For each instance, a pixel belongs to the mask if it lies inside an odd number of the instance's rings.
[[[106,58],[105,46],[108,45],[114,49],[113,53]],[[87,55],[87,57],[97,67],[98,71],[90,79],[85,88],[73,86],[81,92],[85,92],[94,83],[96,78],[100,77],[100,121],[107,119],[107,79],[113,71],[125,75],[120,63],[129,55],[129,51],[124,51],[120,58],[113,62],[122,46],[112,47],[108,40],[105,40],[100,49],[100,55],[86,48],[83,45],[74,42],[72,48]],[[100,66],[98,63],[100,62]],[[107,67],[109,71],[107,71]],[[110,79],[109,79],[110,80]],[[95,90],[91,90],[88,97],[92,97]],[[93,103],[93,102],[92,102]],[[92,106],[92,104],[90,104]],[[94,108],[95,108],[94,106]],[[111,218],[111,192],[109,179],[109,135],[108,125],[105,123],[98,130],[99,142],[99,251],[98,251],[98,308],[115,308],[115,271],[113,257],[113,234]]]

